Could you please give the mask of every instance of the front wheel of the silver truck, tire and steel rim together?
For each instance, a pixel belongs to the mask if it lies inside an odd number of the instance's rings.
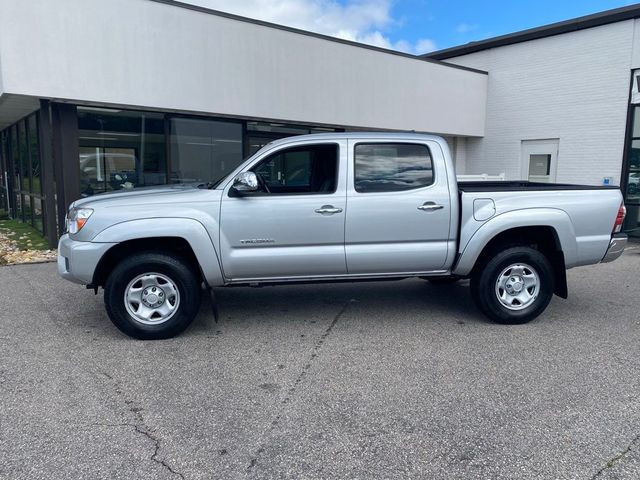
[[[117,265],[107,280],[104,303],[123,333],[141,340],[182,333],[200,307],[195,268],[165,253],[142,253]]]

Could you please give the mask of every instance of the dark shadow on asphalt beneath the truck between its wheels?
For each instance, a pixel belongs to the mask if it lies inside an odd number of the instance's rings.
[[[186,335],[199,335],[224,326],[257,323],[308,321],[326,317],[347,302],[346,312],[362,322],[380,326],[387,322],[439,324],[488,323],[471,300],[468,282],[431,285],[424,280],[237,287],[215,290],[219,323],[213,319],[211,304],[203,296],[200,313]],[[326,313],[325,313],[326,312]],[[217,325],[217,327],[216,327]]]

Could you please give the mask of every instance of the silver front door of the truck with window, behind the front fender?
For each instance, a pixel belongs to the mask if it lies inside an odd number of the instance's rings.
[[[225,187],[221,256],[230,280],[346,273],[347,141],[276,146],[244,171],[260,190],[237,196]]]

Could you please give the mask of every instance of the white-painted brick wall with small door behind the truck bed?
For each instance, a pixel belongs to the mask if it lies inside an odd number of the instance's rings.
[[[620,182],[633,20],[447,60],[487,70],[484,138],[466,141],[467,174],[520,179],[521,141],[559,138],[557,182]],[[636,46],[636,49],[638,47]]]

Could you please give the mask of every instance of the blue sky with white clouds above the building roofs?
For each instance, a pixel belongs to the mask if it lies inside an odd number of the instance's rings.
[[[631,5],[616,0],[183,0],[411,54]]]

